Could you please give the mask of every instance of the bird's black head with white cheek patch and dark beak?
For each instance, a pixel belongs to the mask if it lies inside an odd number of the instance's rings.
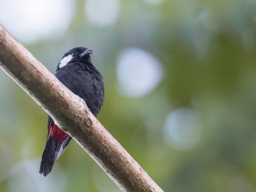
[[[92,56],[92,49],[88,49],[86,47],[76,47],[74,49],[70,49],[70,51],[66,52],[62,57],[60,63],[58,64],[57,70],[65,67],[70,62],[81,62],[81,63],[90,63]]]

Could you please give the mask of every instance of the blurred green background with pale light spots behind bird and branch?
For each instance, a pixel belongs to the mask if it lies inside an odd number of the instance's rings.
[[[256,1],[0,4],[51,72],[69,49],[93,49],[100,122],[164,191],[256,191]],[[74,141],[42,177],[46,113],[3,71],[0,90],[0,191],[120,191]]]

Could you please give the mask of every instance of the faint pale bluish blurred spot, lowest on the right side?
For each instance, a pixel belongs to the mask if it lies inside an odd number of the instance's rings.
[[[164,123],[164,140],[176,150],[193,148],[200,135],[199,120],[191,109],[177,109],[167,116]]]

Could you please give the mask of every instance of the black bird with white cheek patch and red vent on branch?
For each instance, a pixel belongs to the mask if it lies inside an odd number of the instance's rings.
[[[67,88],[83,99],[94,116],[104,102],[104,83],[100,72],[91,61],[92,49],[75,47],[66,52],[58,63],[55,76]],[[71,140],[47,114],[47,138],[39,172],[45,177],[51,173],[54,162],[63,154]]]

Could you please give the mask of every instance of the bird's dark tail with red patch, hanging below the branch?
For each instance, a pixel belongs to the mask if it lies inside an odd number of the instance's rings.
[[[53,127],[55,128],[55,130],[52,129]],[[63,131],[61,131],[63,132],[61,133],[60,131],[61,129],[58,128],[56,125],[53,124],[51,126],[39,170],[39,173],[44,176],[51,173],[54,162],[61,156],[65,147],[67,147],[69,141],[71,140],[71,137],[68,136],[68,134]],[[62,138],[62,140],[60,140],[60,134],[66,134],[65,138]]]

